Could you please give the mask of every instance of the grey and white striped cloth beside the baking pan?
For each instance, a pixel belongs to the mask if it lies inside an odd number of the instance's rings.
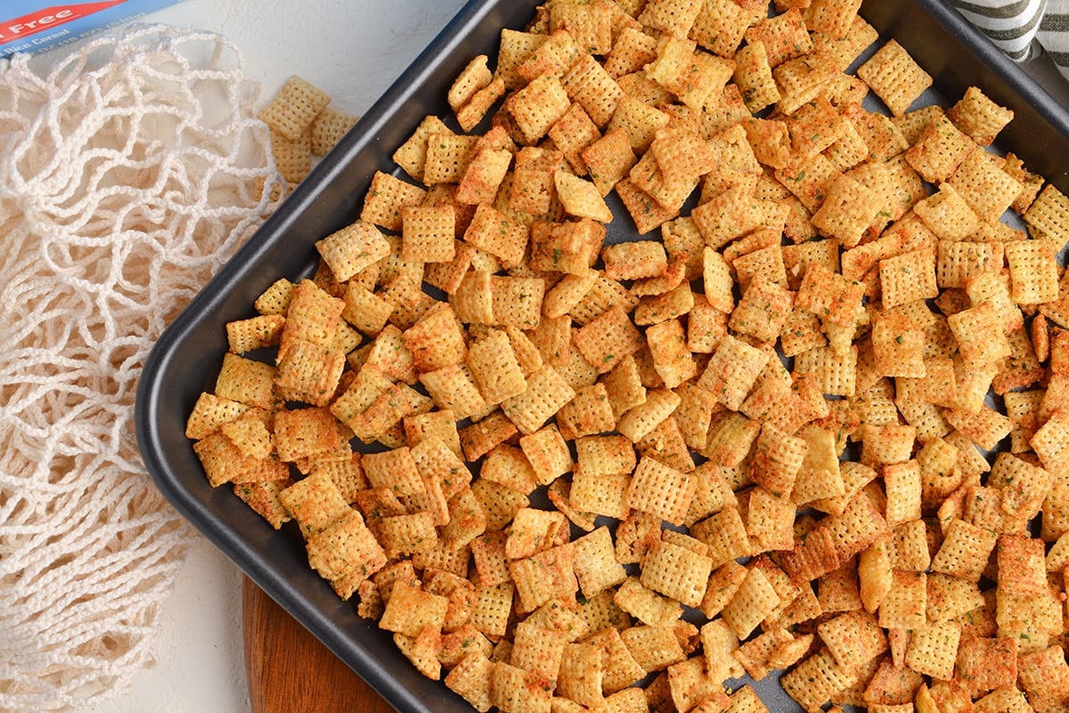
[[[1069,78],[1069,0],[950,0],[1014,62],[1045,52]]]

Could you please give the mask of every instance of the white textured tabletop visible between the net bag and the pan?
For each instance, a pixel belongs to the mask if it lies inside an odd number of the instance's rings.
[[[463,5],[462,0],[187,0],[148,16],[234,41],[266,101],[291,75],[360,113]],[[42,60],[47,61],[48,56]],[[241,632],[241,574],[206,540],[189,553],[165,602],[157,663],[93,713],[249,711]]]

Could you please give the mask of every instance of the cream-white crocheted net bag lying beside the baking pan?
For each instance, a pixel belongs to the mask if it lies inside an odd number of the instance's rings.
[[[276,207],[255,100],[213,34],[0,63],[0,711],[91,707],[152,663],[193,535],[140,461],[137,379]]]

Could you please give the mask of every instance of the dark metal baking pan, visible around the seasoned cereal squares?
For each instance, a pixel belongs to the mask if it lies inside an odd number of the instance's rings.
[[[210,391],[227,349],[224,324],[250,316],[260,292],[279,278],[309,274],[313,243],[351,223],[376,170],[393,172],[390,156],[427,114],[448,116],[446,92],[479,53],[495,57],[501,28],[522,29],[531,0],[472,0],[456,15],[342,143],[313,171],[160,338],[140,382],[138,439],[164,495],[261,588],[404,713],[467,713],[439,682],[424,679],[389,635],[356,616],[308,566],[299,535],[276,532],[229,488],[213,490],[185,438],[197,396]],[[895,37],[935,79],[936,99],[954,101],[977,85],[1016,118],[998,146],[1020,156],[1069,193],[1069,116],[942,0],[866,0],[862,14]],[[614,211],[619,204],[614,205]],[[628,218],[609,241],[634,239]],[[733,683],[741,683],[733,682]],[[774,711],[799,710],[775,679],[755,684]]]

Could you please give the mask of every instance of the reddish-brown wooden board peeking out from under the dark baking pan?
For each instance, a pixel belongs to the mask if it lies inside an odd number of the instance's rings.
[[[396,713],[263,589],[242,579],[245,677],[252,713]]]

